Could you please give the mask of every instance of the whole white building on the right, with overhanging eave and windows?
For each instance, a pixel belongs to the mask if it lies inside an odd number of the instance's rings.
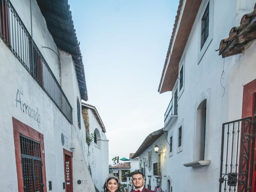
[[[167,192],[254,191],[255,15],[254,0],[180,0],[158,89]]]

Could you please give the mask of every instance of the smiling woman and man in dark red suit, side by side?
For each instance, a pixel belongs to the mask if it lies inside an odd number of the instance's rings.
[[[135,190],[132,192],[154,192],[144,187],[144,181],[144,175],[141,172],[135,172],[132,175],[132,184],[134,185]],[[115,176],[108,177],[103,188],[104,192],[121,192],[119,180]]]

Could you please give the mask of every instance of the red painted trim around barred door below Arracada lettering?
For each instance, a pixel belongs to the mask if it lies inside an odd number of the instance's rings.
[[[46,172],[45,172],[45,157],[42,150],[44,150],[44,135],[30,126],[20,122],[16,118],[12,117],[13,126],[13,137],[14,137],[14,148],[15,148],[15,158],[16,158],[16,170],[18,179],[18,192],[23,192],[23,178],[22,178],[22,165],[21,165],[21,152],[20,152],[20,134],[36,140],[41,143],[41,157],[42,157],[42,176],[44,183],[44,191],[46,190]]]

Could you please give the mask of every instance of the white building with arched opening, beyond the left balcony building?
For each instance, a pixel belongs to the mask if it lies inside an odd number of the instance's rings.
[[[108,177],[108,140],[105,126],[96,107],[82,102],[82,117],[86,127],[86,142],[88,146],[88,167],[94,185],[103,191],[103,185]]]

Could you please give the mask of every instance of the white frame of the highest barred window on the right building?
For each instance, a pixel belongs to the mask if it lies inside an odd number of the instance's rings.
[[[204,11],[206,10],[206,7],[209,3],[209,30],[208,30],[208,37],[206,41],[204,42],[204,46],[201,49],[201,30],[202,30],[202,17],[204,15]],[[207,48],[209,47],[210,43],[212,42],[212,36],[213,36],[213,0],[204,0],[202,2],[202,8],[199,11],[200,15],[198,17],[198,28],[199,28],[199,42],[198,42],[198,64],[202,60],[202,57],[204,56]]]

